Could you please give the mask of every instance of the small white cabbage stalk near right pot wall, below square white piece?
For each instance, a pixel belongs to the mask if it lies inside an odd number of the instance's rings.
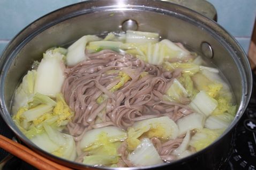
[[[216,116],[210,116],[205,121],[205,127],[208,129],[226,129],[230,122],[221,120]]]

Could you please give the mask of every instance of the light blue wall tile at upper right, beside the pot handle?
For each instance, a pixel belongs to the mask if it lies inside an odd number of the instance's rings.
[[[218,22],[234,36],[251,37],[256,16],[255,0],[208,0],[217,10]]]

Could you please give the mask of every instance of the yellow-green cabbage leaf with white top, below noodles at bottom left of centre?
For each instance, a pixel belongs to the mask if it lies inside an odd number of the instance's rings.
[[[117,164],[120,157],[117,150],[126,138],[126,132],[114,126],[89,130],[80,142],[81,150],[87,153],[83,163],[94,166]]]

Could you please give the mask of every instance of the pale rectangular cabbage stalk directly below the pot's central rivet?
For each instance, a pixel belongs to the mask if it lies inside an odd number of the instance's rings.
[[[158,33],[140,32],[134,30],[126,31],[126,43],[156,43],[158,41]]]

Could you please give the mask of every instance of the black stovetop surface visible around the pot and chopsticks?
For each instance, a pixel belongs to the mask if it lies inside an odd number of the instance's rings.
[[[0,117],[0,134],[12,138],[14,135]],[[0,161],[8,155],[0,149]],[[1,165],[0,165],[1,166]],[[0,167],[1,168],[1,167]],[[35,169],[24,161],[13,157],[2,168],[3,170]],[[256,170],[256,75],[253,74],[253,92],[250,103],[238,123],[234,150],[223,170]]]

